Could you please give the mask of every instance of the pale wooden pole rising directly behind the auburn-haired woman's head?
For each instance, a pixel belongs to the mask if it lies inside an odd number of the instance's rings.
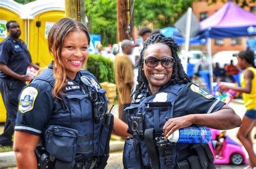
[[[66,17],[85,23],[85,0],[65,0]]]

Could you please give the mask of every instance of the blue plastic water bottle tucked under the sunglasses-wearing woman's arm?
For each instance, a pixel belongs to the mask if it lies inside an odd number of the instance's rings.
[[[188,126],[174,131],[168,139],[175,143],[208,143],[211,140],[211,130],[206,126]]]

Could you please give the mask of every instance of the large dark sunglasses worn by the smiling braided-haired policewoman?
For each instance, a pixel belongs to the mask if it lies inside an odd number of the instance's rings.
[[[172,57],[164,57],[162,59],[158,59],[157,57],[150,55],[144,59],[147,67],[156,67],[159,61],[161,62],[161,65],[165,68],[172,68],[174,65],[174,58]]]

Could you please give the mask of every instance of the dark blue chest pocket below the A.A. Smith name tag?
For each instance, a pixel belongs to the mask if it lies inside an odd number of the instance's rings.
[[[70,103],[71,123],[92,119],[92,104],[88,95],[67,95]]]

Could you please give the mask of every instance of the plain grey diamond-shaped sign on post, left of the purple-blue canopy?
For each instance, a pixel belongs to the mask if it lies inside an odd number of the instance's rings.
[[[186,37],[186,22],[187,22],[188,12],[186,12],[174,25],[177,27],[180,31],[180,33],[183,35],[183,37]],[[194,16],[194,13],[192,12],[191,15],[191,29],[190,29],[190,38],[196,36],[196,34],[200,30],[200,23],[197,20],[196,16]]]

